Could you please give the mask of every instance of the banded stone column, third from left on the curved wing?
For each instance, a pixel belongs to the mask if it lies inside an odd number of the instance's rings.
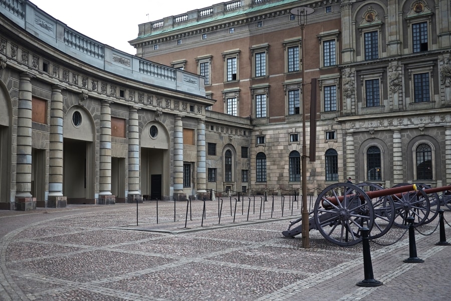
[[[100,111],[99,172],[99,204],[115,204],[115,197],[111,195],[111,108],[108,100],[102,101]]]

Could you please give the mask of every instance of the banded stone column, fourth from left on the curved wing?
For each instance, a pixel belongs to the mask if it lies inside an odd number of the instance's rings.
[[[128,195],[127,203],[142,203],[139,179],[138,109],[130,108],[128,117]]]

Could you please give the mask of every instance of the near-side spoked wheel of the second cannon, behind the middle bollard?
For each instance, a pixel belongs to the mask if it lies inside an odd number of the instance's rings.
[[[395,187],[410,184],[398,184]],[[395,219],[393,224],[400,228],[408,228],[409,224],[406,218],[412,216],[415,218],[413,226],[422,225],[429,215],[430,203],[429,198],[422,189],[417,191],[402,193],[401,196],[393,195],[393,203],[395,206]]]

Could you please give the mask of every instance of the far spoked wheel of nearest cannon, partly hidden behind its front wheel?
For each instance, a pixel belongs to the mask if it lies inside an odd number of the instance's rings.
[[[383,190],[384,188],[374,183],[359,183],[357,187],[360,187],[364,191]],[[391,196],[383,196],[379,198],[371,199],[374,210],[374,223],[371,232],[369,233],[370,239],[381,237],[390,230],[393,225],[395,210],[393,199]]]

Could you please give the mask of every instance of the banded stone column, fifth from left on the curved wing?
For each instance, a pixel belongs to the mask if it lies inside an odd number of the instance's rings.
[[[174,200],[183,201],[183,123],[175,116],[174,123]]]

